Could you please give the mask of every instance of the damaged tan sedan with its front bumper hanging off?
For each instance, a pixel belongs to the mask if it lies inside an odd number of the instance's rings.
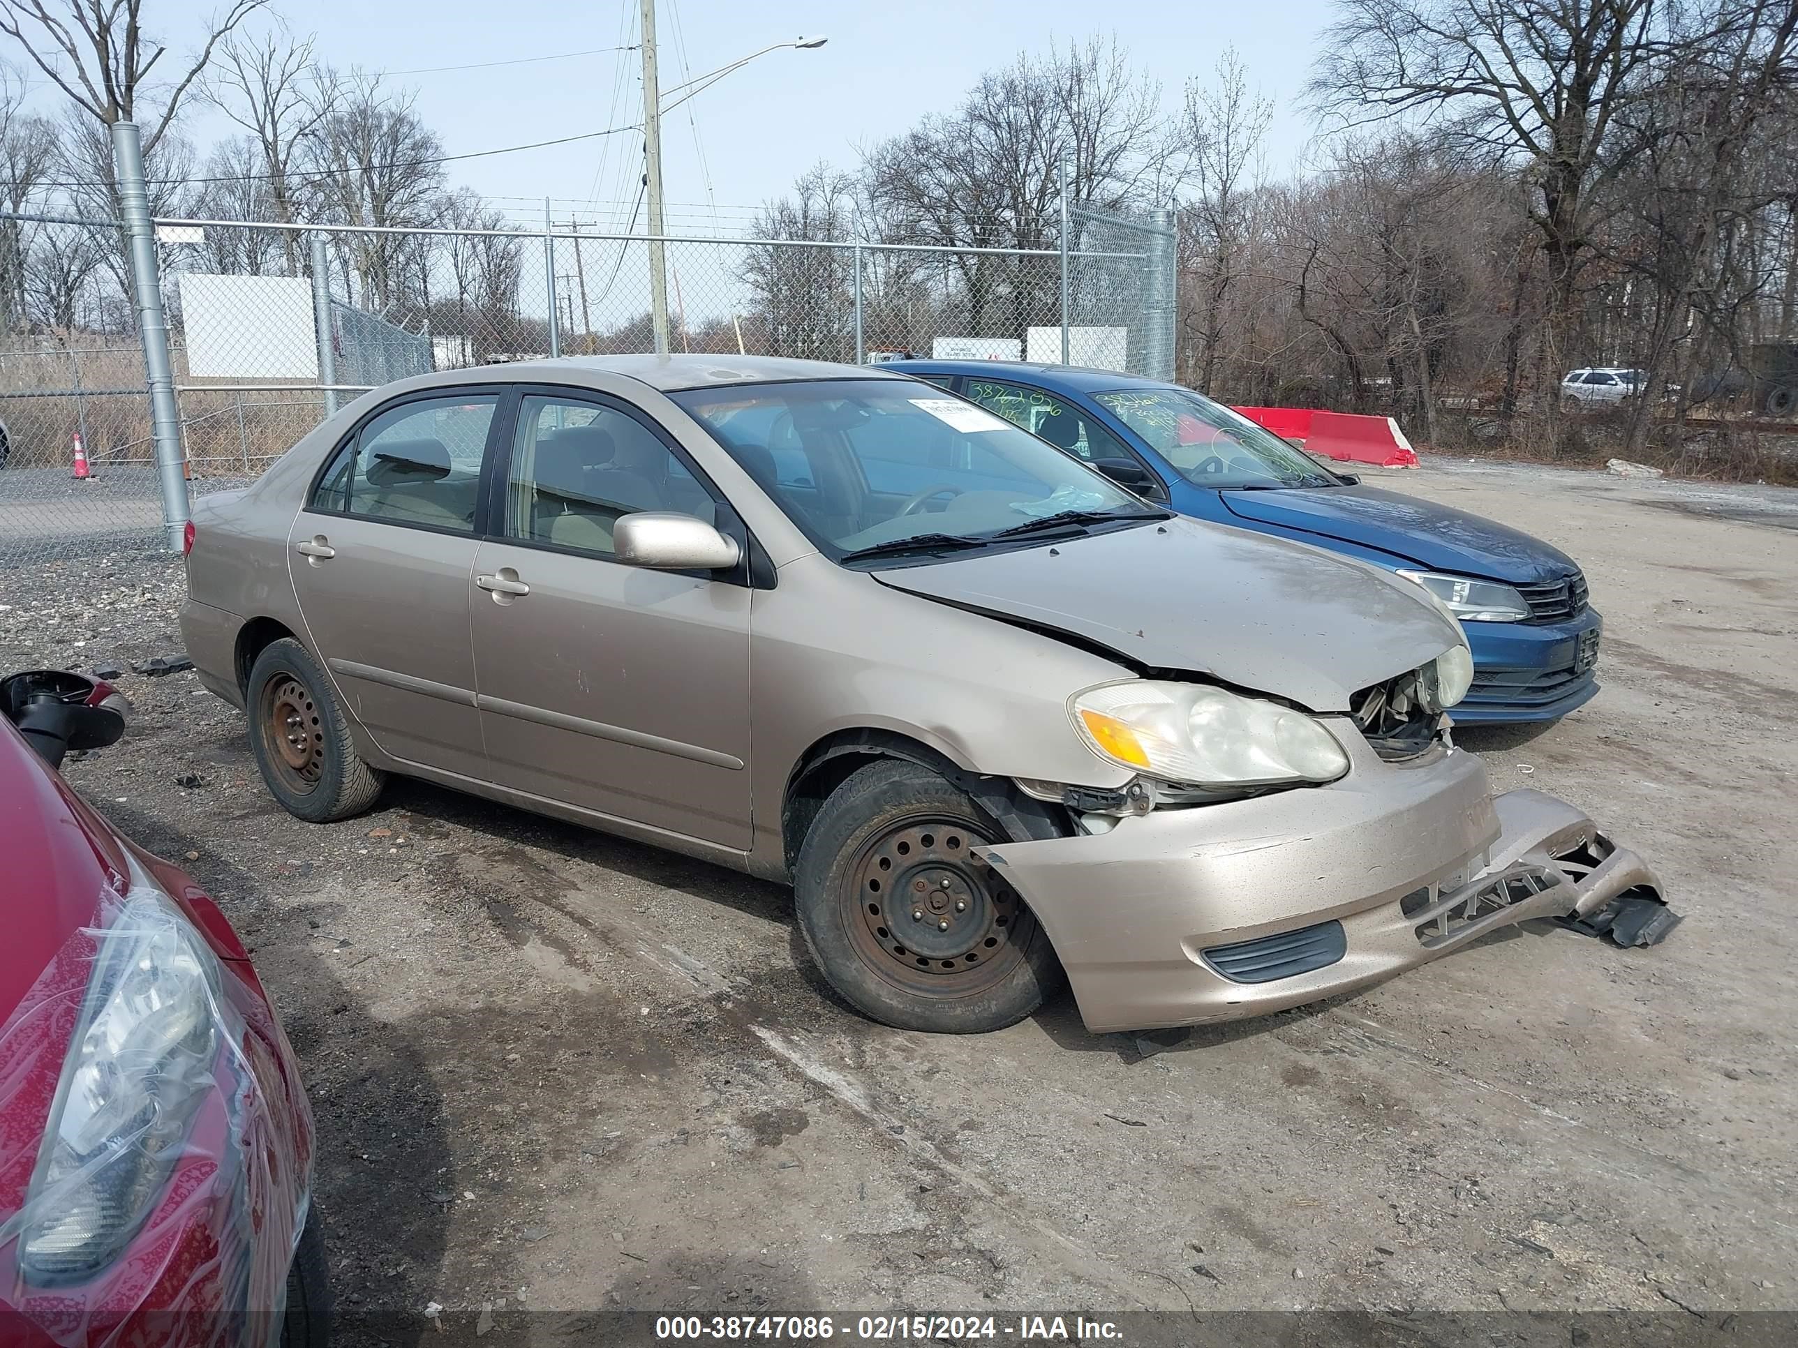
[[[376,390],[194,512],[182,627],[306,820],[406,773],[797,891],[863,1012],[1250,1015],[1496,926],[1676,920],[1492,800],[1455,618],[915,379],[532,361]]]

